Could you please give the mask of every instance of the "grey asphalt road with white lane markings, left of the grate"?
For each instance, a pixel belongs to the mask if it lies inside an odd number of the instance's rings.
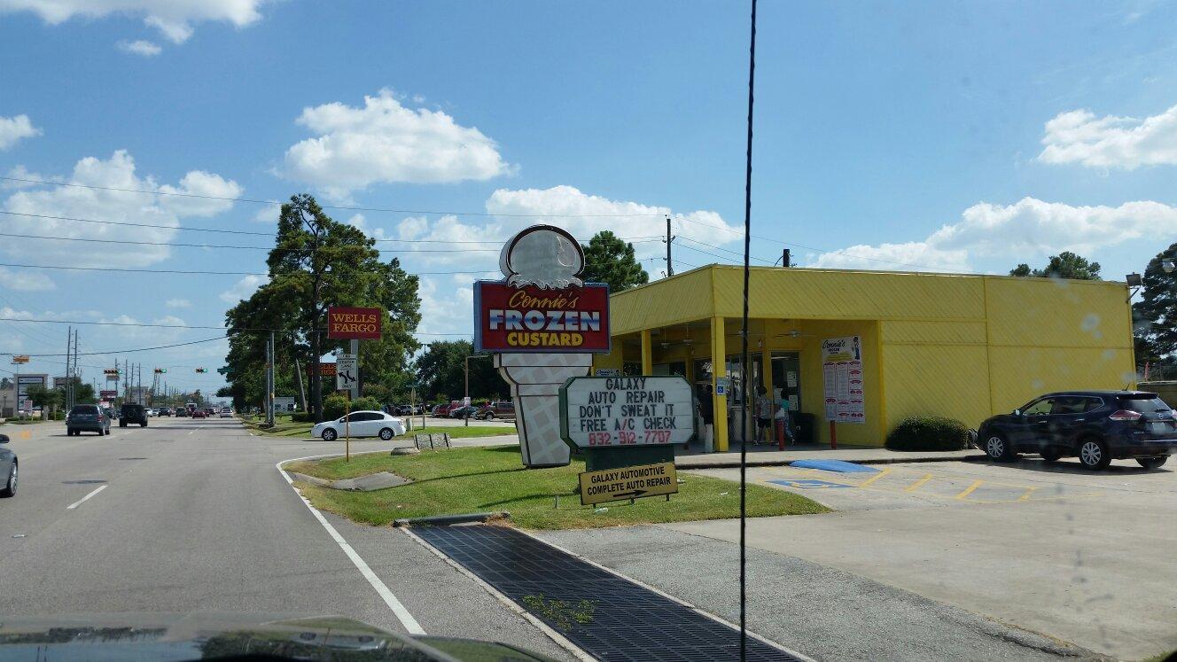
[[[0,431],[20,458],[18,495],[0,499],[0,616],[330,614],[408,631],[274,466],[341,443],[221,418],[153,418],[108,437],[52,423]],[[426,633],[571,658],[408,536],[325,518]]]

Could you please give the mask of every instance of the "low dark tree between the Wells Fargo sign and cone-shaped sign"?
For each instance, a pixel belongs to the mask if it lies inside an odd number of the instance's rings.
[[[417,359],[418,396],[432,402],[444,396],[448,402],[466,395],[466,357],[476,356],[470,340],[439,340],[430,343]],[[510,389],[494,362],[478,355],[470,359],[470,395],[478,398],[505,398]]]

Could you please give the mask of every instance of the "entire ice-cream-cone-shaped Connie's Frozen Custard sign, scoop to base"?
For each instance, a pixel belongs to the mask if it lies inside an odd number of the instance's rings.
[[[494,352],[511,385],[527,466],[568,463],[559,389],[611,349],[609,286],[584,283],[584,251],[567,231],[533,225],[499,254],[504,280],[474,283],[474,350]]]

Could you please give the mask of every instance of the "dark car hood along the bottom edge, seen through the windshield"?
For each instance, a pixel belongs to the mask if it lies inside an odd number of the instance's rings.
[[[339,616],[201,611],[0,617],[0,658],[16,661],[253,657],[448,662],[471,658],[476,651],[478,658],[547,660],[492,642],[398,635]]]

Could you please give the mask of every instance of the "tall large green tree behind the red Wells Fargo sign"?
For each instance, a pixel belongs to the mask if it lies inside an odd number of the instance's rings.
[[[408,359],[420,346],[413,337],[420,323],[418,278],[395,258],[380,262],[374,246],[359,229],[332,220],[308,194],[282,205],[266,260],[270,282],[225,315],[231,335],[226,378],[234,400],[261,400],[267,330],[277,329],[275,386],[294,392],[294,370],[308,370],[307,404],[322,421],[319,360],[346,343],[326,338],[333,305],[384,309],[381,338],[361,343],[361,382],[391,386],[407,379]]]

